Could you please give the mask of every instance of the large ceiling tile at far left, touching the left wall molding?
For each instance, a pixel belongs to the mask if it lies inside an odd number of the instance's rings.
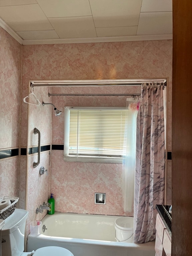
[[[15,31],[53,29],[38,4],[2,6],[0,16]]]

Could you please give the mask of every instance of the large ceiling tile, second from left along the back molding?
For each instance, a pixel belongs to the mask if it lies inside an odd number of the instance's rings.
[[[96,37],[92,16],[49,18],[60,38]]]

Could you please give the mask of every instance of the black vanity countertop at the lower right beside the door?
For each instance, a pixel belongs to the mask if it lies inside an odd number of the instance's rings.
[[[172,217],[171,214],[169,213],[169,208],[171,205],[164,205],[164,204],[157,204],[156,209],[165,224],[165,227],[167,228],[167,231],[169,235],[171,236],[171,222],[172,222]]]

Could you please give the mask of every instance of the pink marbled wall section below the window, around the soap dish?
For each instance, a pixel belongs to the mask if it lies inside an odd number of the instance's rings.
[[[125,215],[121,173],[121,164],[64,162],[62,151],[52,151],[51,193],[56,200],[55,210]],[[106,193],[105,205],[94,203],[95,192]]]

